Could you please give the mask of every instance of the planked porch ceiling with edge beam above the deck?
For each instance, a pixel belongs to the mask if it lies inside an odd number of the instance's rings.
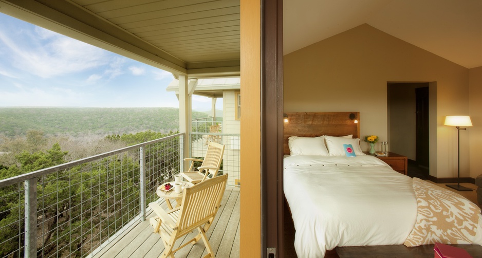
[[[176,77],[239,76],[239,0],[0,0],[0,11]]]

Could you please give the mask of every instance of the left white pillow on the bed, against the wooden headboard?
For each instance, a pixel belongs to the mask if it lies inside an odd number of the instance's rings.
[[[291,136],[288,138],[288,147],[291,156],[296,155],[320,155],[328,156],[323,136],[319,137],[300,137]]]

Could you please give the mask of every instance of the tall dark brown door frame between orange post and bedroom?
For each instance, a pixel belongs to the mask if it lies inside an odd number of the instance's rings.
[[[283,0],[262,0],[261,81],[261,238],[283,257]]]

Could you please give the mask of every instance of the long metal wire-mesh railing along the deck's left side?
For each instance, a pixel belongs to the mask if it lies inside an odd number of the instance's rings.
[[[182,169],[185,134],[0,180],[0,255],[95,254],[145,219],[157,187]]]

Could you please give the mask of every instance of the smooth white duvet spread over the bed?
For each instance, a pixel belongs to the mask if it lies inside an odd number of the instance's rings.
[[[323,257],[337,246],[401,245],[416,222],[412,178],[374,156],[288,156],[284,192],[298,257]]]

